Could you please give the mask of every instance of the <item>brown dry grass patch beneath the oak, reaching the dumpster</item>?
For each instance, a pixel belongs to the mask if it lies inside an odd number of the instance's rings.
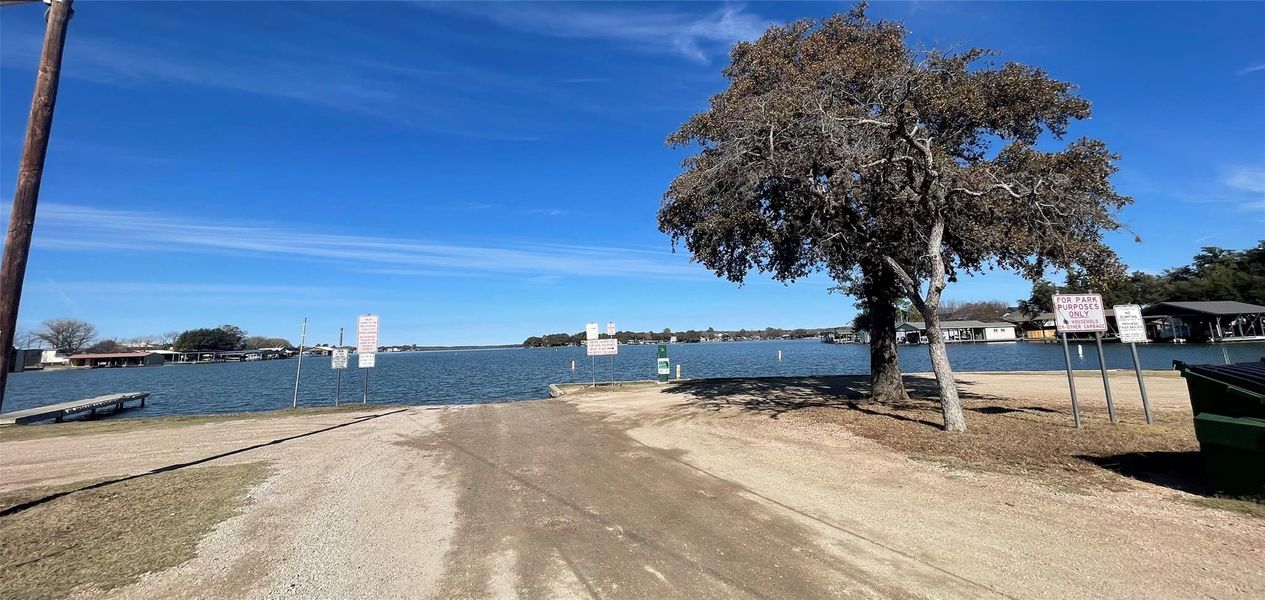
[[[940,406],[932,400],[846,408],[811,408],[793,419],[842,425],[916,461],[1021,475],[1073,492],[1126,490],[1132,481],[1145,481],[1194,494],[1182,497],[1200,506],[1265,518],[1262,499],[1207,490],[1189,411],[1155,411],[1155,423],[1147,425],[1141,410],[1118,410],[1116,424],[1106,411],[1088,410],[1078,430],[1070,411],[990,397],[968,400],[968,432],[947,434],[939,428]]]

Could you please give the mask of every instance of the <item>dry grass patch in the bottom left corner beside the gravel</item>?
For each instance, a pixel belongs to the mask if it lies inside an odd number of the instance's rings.
[[[188,561],[264,478],[257,462],[0,495],[0,597],[109,590]]]

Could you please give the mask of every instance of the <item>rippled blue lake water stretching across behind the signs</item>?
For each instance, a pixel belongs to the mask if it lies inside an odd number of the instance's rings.
[[[1098,368],[1094,344],[1073,344],[1074,368]],[[1128,347],[1104,346],[1109,368],[1132,368]],[[783,359],[778,362],[778,351]],[[1189,363],[1259,361],[1265,343],[1226,346],[1149,344],[1137,348],[1144,368]],[[684,377],[777,375],[849,375],[869,372],[869,347],[825,344],[813,339],[672,344],[668,356]],[[1045,343],[950,344],[956,371],[1055,371],[1063,368],[1063,347]],[[576,361],[576,371],[571,362]],[[654,346],[621,346],[620,354],[597,357],[597,378],[655,377]],[[353,357],[352,365],[355,365]],[[468,404],[546,397],[549,384],[589,381],[583,348],[438,351],[378,354],[369,373],[369,401],[396,404]],[[926,346],[901,347],[906,372],[930,371]],[[145,368],[32,371],[9,376],[4,410],[19,410],[120,391],[152,391],[144,409],[120,416],[238,413],[290,406],[296,361],[213,365],[170,365]],[[676,375],[676,367],[673,367]],[[343,401],[361,401],[362,371],[343,372]],[[334,404],[334,371],[329,358],[304,358],[300,405]]]

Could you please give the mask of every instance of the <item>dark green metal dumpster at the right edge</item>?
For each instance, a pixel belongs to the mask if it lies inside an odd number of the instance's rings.
[[[1208,482],[1221,492],[1265,497],[1265,359],[1173,366],[1190,391]]]

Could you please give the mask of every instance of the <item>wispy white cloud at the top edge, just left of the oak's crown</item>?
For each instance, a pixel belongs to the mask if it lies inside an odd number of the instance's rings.
[[[558,38],[610,39],[644,52],[672,53],[707,63],[735,42],[756,38],[768,25],[744,6],[706,14],[663,6],[636,10],[603,4],[487,3],[429,5],[490,20],[506,29]]]

